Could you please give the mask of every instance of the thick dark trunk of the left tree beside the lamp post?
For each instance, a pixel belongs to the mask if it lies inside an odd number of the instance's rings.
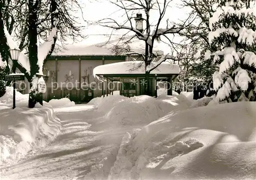
[[[35,107],[37,102],[40,102],[40,94],[37,89],[38,78],[36,73],[39,72],[39,67],[37,65],[37,7],[38,0],[34,3],[33,0],[29,0],[29,62],[30,62],[30,76],[32,81],[30,82],[30,92],[29,92],[29,108]]]

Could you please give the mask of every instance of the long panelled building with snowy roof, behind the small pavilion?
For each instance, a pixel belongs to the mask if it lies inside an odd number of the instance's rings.
[[[44,94],[44,99],[49,101],[53,98],[69,97],[72,101],[88,102],[106,94],[106,86],[104,86],[105,91],[102,91],[101,80],[95,78],[93,74],[93,70],[97,66],[141,60],[138,55],[131,55],[131,53],[143,53],[143,41],[118,47],[115,46],[117,39],[108,40],[106,39],[108,43],[103,42],[90,46],[73,44],[54,52],[47,59],[43,70],[44,74],[48,76],[48,89]],[[169,47],[166,44],[156,43],[155,49],[156,53],[167,54],[163,50],[168,51]],[[120,86],[117,85],[112,88],[113,91],[120,90],[118,89]]]

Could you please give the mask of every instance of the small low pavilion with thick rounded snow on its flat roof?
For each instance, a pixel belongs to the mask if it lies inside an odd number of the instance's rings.
[[[157,66],[158,65],[158,66]],[[167,95],[172,95],[173,79],[180,73],[179,65],[169,62],[152,62],[155,68],[150,73],[149,92],[156,96],[158,81],[167,82]],[[99,65],[93,70],[93,75],[104,82],[102,92],[108,95],[113,93],[114,86],[120,91],[120,95],[133,97],[143,95],[145,92],[145,63],[144,61],[125,61],[112,64]],[[115,83],[116,82],[116,83]],[[109,85],[106,85],[109,84]]]

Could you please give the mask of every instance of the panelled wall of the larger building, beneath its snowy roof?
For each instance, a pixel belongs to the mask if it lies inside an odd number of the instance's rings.
[[[104,64],[122,61],[104,60]],[[102,96],[102,82],[93,76],[93,69],[102,63],[102,60],[48,60],[44,67],[44,74],[49,75],[44,100],[69,97],[72,101],[90,101]]]

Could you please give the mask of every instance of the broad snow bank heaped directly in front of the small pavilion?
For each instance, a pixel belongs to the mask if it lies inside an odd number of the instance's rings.
[[[173,109],[189,108],[185,96],[180,99],[174,96],[161,95],[158,98],[151,96],[124,97],[120,95],[98,97],[92,99],[88,104],[95,105],[100,113],[104,115],[104,123],[100,127],[110,126],[134,126],[146,125],[158,118],[165,116]]]

